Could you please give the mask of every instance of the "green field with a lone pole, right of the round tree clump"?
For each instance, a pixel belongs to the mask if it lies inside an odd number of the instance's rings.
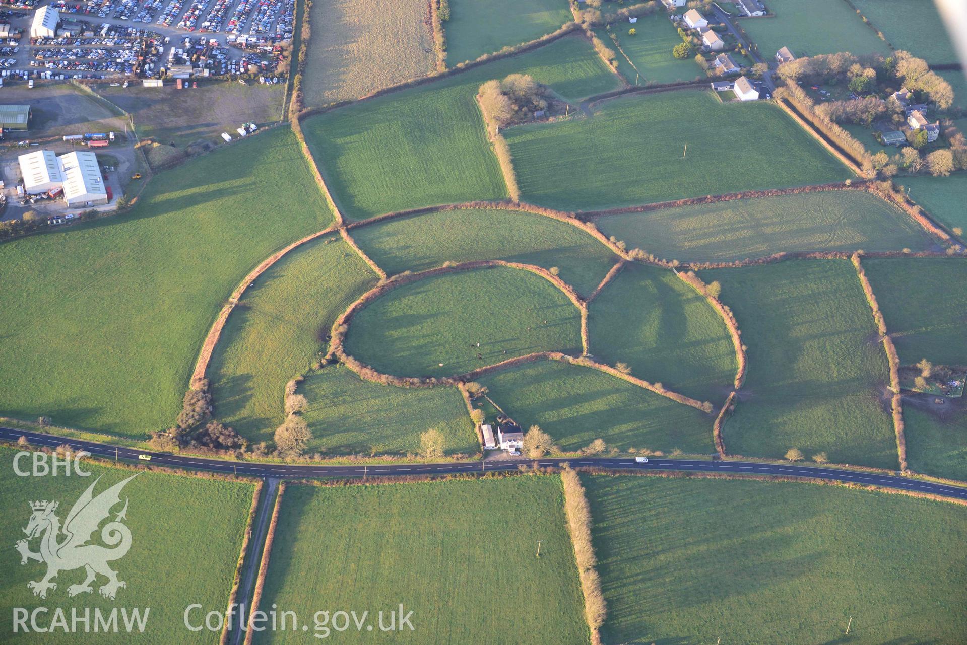
[[[596,105],[590,118],[514,126],[505,136],[523,198],[563,210],[834,182],[848,176],[842,164],[775,105],[722,104],[712,92],[615,98]],[[776,162],[777,155],[783,163]]]

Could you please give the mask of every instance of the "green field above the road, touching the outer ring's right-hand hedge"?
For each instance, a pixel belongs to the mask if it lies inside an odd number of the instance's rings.
[[[799,448],[806,459],[826,452],[833,463],[896,468],[887,356],[848,261],[700,275],[721,282],[748,348],[740,402],[723,431],[728,452],[781,458]]]

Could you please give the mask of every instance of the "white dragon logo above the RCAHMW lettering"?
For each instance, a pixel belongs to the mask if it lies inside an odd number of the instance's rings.
[[[74,502],[63,528],[60,519],[54,515],[58,502],[44,499],[44,501],[30,503],[33,515],[30,516],[27,527],[23,529],[27,539],[18,541],[14,547],[20,552],[20,564],[27,564],[27,560],[36,560],[45,562],[47,565],[47,573],[43,578],[27,583],[27,586],[34,591],[34,596],[46,598],[48,589],[57,589],[57,583],[51,582],[52,578],[62,571],[71,571],[80,567],[87,572],[87,577],[82,583],[68,587],[69,596],[94,591],[91,588],[91,582],[98,574],[107,578],[107,583],[100,589],[104,598],[113,601],[117,590],[128,586],[126,582],[118,579],[116,571],[112,571],[107,566],[111,560],[124,557],[131,548],[131,530],[121,521],[127,519],[127,498],[125,498],[124,508],[117,514],[114,521],[107,522],[101,529],[101,540],[105,545],[113,548],[87,543],[98,530],[102,520],[110,515],[111,508],[121,502],[121,490],[134,477],[137,475],[132,475],[123,482],[115,484],[97,497],[93,495],[93,491],[101,478],[94,480],[94,484],[91,484],[87,491],[84,491]],[[66,537],[59,541],[61,534]],[[41,550],[35,553],[30,550],[28,541],[37,537],[41,537]]]

